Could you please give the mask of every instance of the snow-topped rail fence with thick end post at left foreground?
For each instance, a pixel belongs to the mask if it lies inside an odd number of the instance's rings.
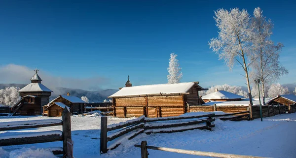
[[[34,120],[34,121],[18,121],[18,122],[4,122],[0,123],[0,131],[17,130],[27,128],[39,128],[46,126],[63,126],[63,131],[52,130],[43,132],[29,132],[26,134],[17,134],[9,136],[1,136],[0,146],[34,144],[44,142],[63,141],[63,148],[49,148],[53,154],[67,154],[67,140],[71,140],[71,112],[65,108],[63,111],[62,120]]]

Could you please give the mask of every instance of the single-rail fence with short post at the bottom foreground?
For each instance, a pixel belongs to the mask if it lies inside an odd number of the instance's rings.
[[[263,157],[202,152],[202,151],[194,151],[194,150],[175,149],[175,148],[154,147],[154,146],[148,146],[147,141],[142,141],[141,145],[135,144],[135,147],[141,148],[141,158],[148,158],[148,150],[147,149],[188,154],[188,155],[196,155],[196,156],[215,157],[215,158],[263,158]]]

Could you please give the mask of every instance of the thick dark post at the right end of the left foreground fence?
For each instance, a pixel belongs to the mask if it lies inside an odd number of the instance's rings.
[[[67,153],[67,140],[72,139],[71,136],[71,112],[65,107],[63,114],[63,151],[64,155]]]

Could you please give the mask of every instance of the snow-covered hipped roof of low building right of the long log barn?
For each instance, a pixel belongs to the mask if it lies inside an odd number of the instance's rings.
[[[245,96],[236,95],[227,91],[217,91],[209,95],[202,96],[202,99],[239,99],[244,98]]]

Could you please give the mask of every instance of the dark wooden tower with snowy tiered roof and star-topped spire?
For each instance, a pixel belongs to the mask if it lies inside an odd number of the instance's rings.
[[[31,83],[19,90],[22,97],[12,108],[13,114],[21,115],[41,115],[42,106],[49,102],[52,91],[41,84],[41,78],[35,70],[35,75],[31,78]]]

